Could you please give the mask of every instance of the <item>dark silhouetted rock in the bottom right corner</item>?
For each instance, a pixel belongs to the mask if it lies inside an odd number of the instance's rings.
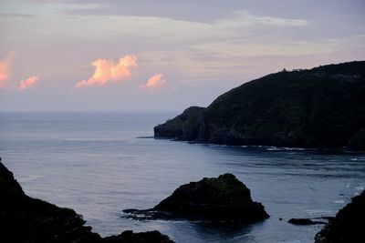
[[[316,235],[316,243],[365,242],[365,191],[339,210]]]

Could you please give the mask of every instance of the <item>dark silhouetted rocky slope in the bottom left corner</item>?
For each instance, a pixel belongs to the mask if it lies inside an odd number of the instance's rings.
[[[74,210],[58,208],[40,199],[27,197],[16,179],[0,162],[0,242],[16,243],[110,243],[172,242],[158,231],[101,238],[85,226]]]

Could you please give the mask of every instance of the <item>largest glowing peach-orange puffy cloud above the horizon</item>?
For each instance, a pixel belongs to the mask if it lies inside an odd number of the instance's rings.
[[[75,87],[104,86],[108,82],[116,82],[131,76],[130,69],[137,67],[134,55],[120,57],[117,64],[111,59],[97,59],[91,63],[95,66],[94,74],[87,80],[79,81]]]

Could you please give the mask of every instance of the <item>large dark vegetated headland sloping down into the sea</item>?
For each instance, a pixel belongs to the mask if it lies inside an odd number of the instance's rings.
[[[155,137],[225,145],[365,150],[365,61],[283,71],[188,108]],[[193,111],[193,112],[190,112]]]

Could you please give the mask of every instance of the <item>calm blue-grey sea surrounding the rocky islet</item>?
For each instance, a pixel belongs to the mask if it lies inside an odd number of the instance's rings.
[[[177,113],[0,113],[0,156],[31,197],[74,208],[103,236],[157,229],[176,242],[313,242],[322,225],[365,187],[365,154],[224,147],[154,139]],[[233,173],[271,216],[222,226],[120,218],[152,208],[182,184]],[[284,220],[279,220],[283,218]]]

